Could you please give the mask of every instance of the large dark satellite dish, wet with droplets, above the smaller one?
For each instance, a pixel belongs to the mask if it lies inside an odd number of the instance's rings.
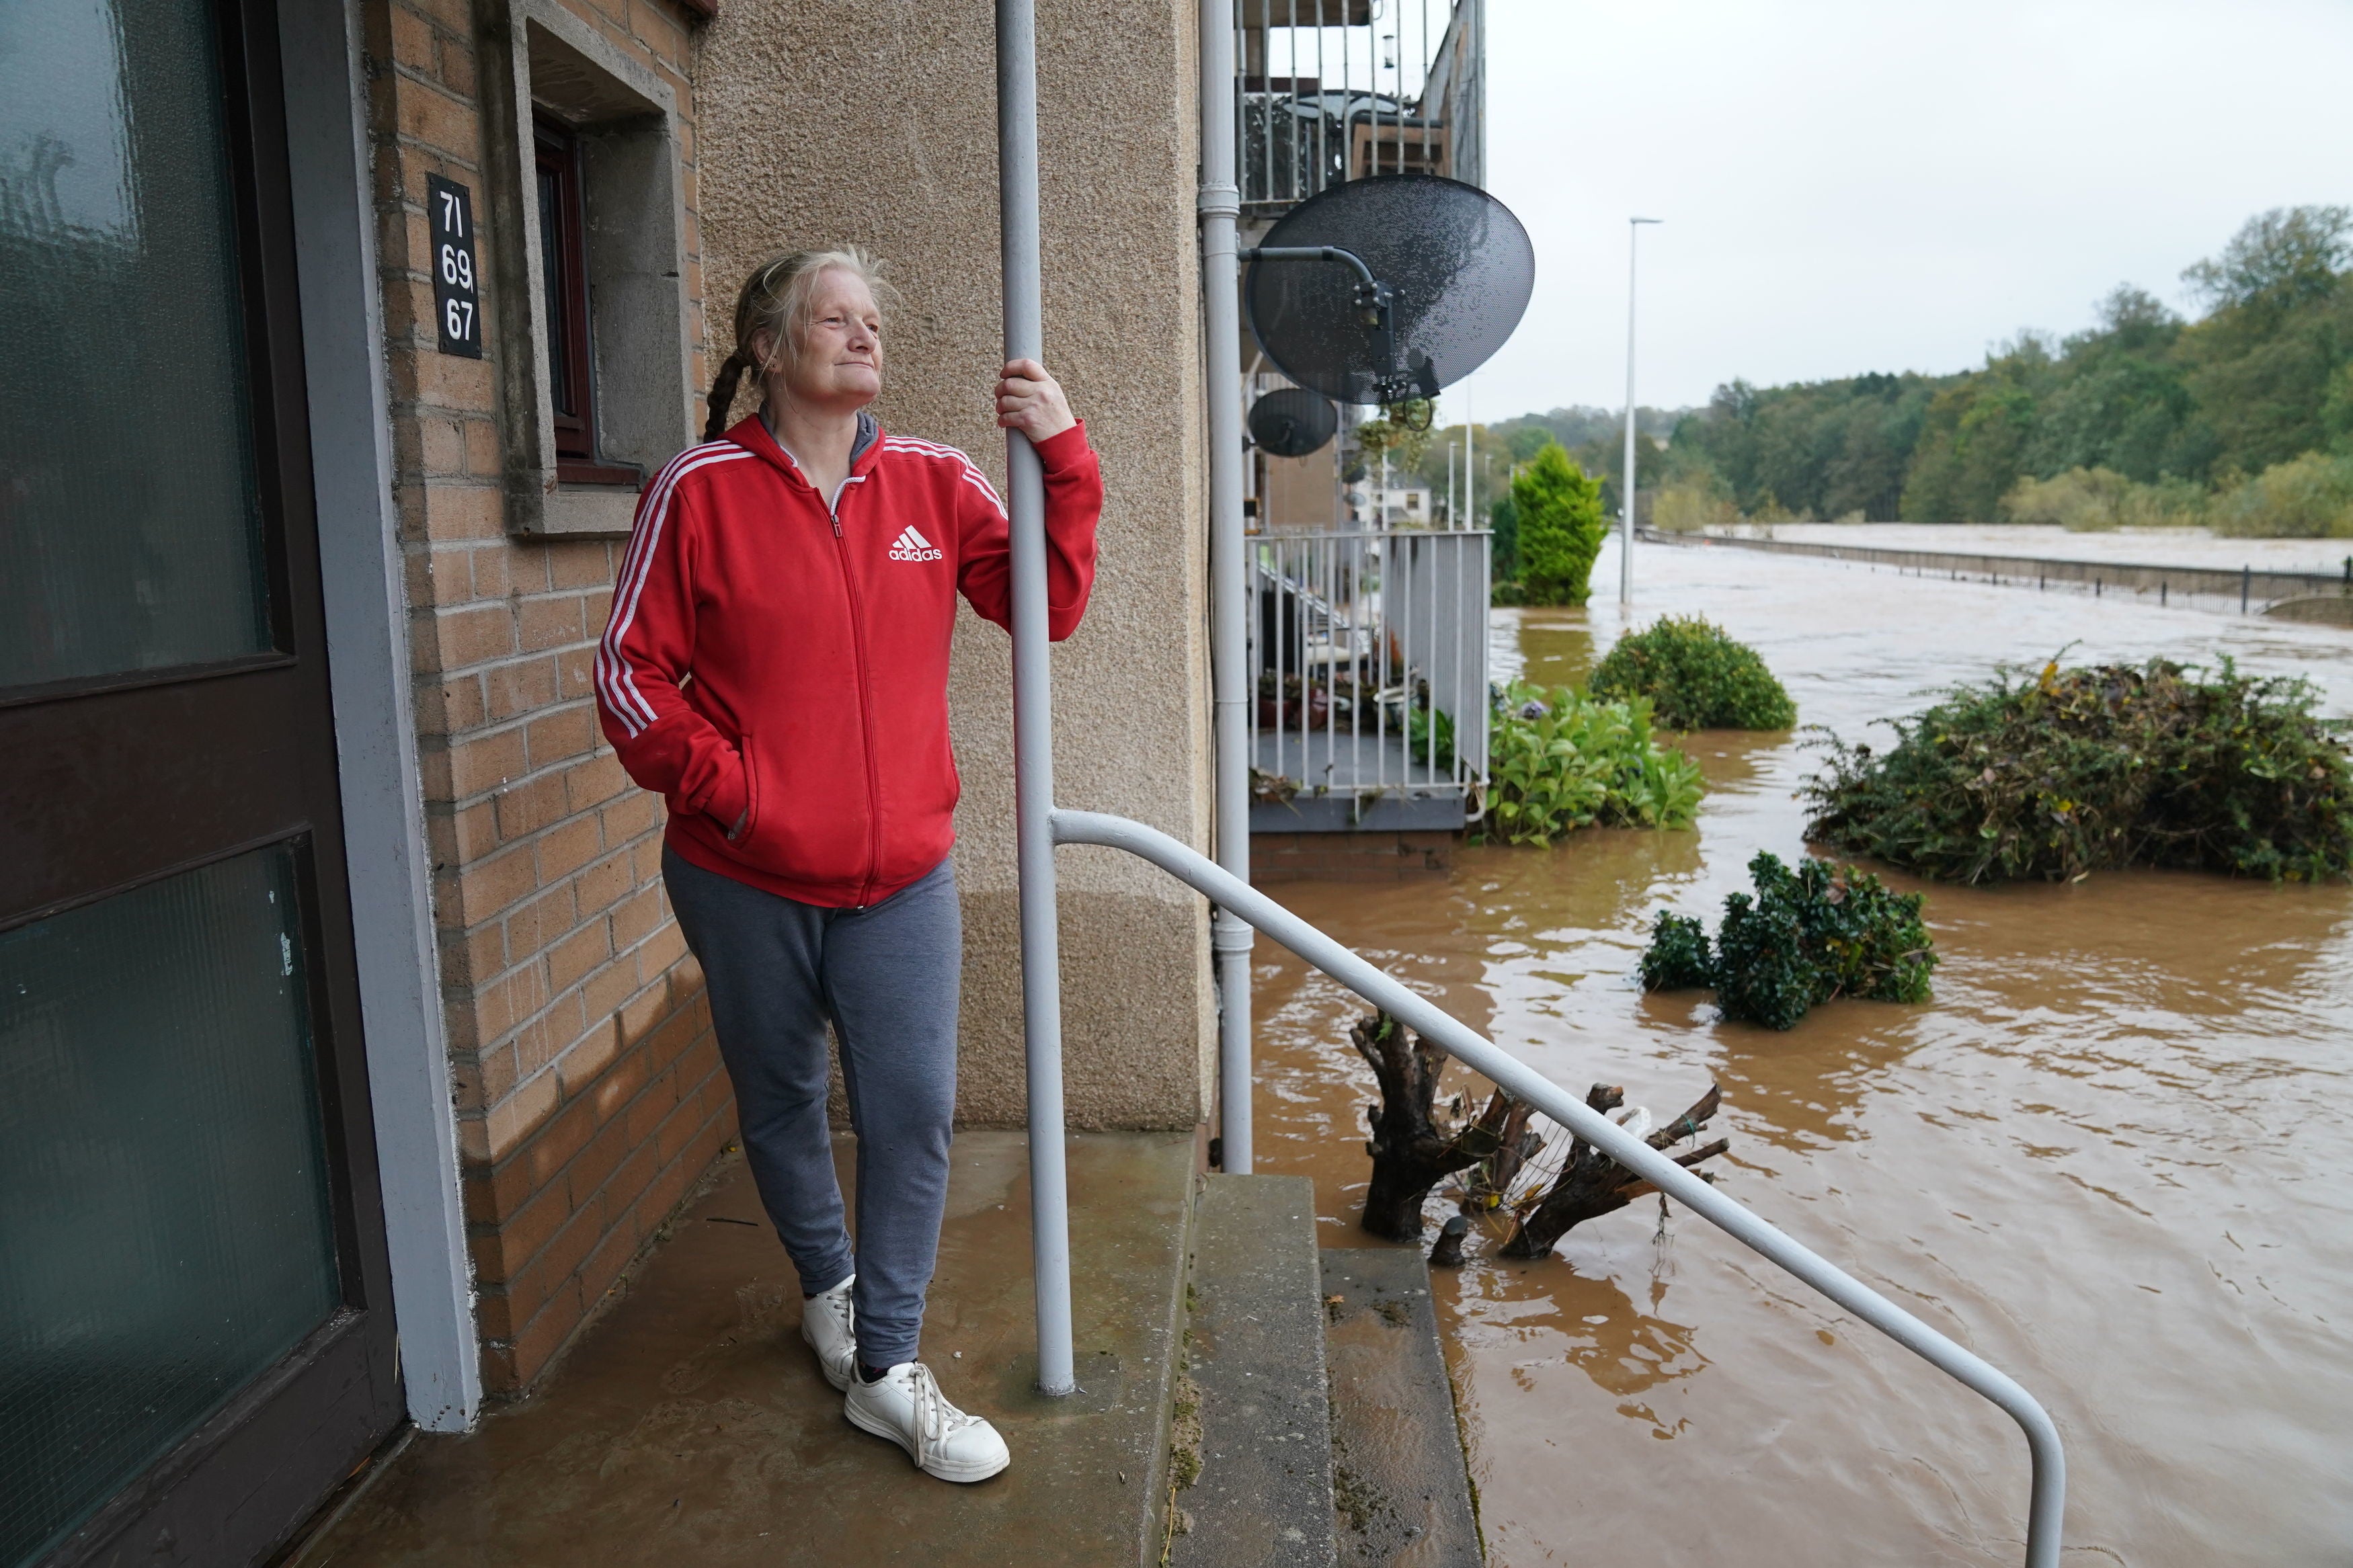
[[[1435,174],[1351,179],[1292,207],[1245,252],[1266,357],[1348,404],[1433,397],[1501,348],[1537,287],[1520,219]]]

